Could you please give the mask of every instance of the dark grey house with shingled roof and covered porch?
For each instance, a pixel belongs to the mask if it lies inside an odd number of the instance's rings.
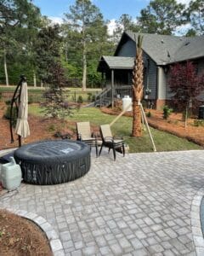
[[[169,65],[190,60],[197,65],[198,73],[204,72],[204,36],[140,34],[144,36],[144,98],[160,109],[172,96],[167,86]],[[112,100],[116,96],[131,96],[138,36],[139,33],[123,32],[114,56],[101,56],[98,72],[102,73],[105,89],[111,91]],[[201,99],[204,100],[204,93]]]

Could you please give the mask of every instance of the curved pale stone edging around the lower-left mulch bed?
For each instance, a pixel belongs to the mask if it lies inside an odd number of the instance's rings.
[[[9,212],[12,212],[14,214],[19,215],[23,218],[28,218],[35,224],[37,224],[42,231],[45,232],[46,236],[48,237],[48,241],[51,247],[51,250],[54,254],[54,256],[64,256],[65,252],[62,246],[61,241],[59,240],[59,236],[56,233],[56,231],[53,229],[51,224],[48,223],[48,221],[45,218],[42,218],[41,216],[37,215],[36,213],[32,212],[26,212],[24,210],[14,210],[11,208],[6,208]]]

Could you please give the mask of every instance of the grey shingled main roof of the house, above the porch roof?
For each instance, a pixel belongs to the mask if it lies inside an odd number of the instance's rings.
[[[115,55],[129,38],[135,42],[139,34],[144,36],[142,48],[157,65],[185,61],[204,56],[204,37],[176,37],[147,33],[124,32]]]

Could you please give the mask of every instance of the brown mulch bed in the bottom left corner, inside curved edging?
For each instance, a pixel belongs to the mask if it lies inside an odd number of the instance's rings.
[[[45,234],[26,218],[0,210],[0,255],[53,255]]]

